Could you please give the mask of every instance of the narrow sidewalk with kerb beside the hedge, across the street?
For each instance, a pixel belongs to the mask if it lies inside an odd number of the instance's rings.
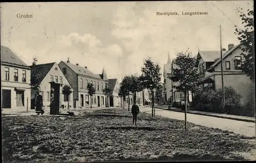
[[[155,108],[158,109],[164,109],[164,110],[171,110],[171,111],[177,111],[177,112],[184,112],[179,108],[168,109],[168,106],[155,106]],[[217,118],[223,118],[223,119],[230,119],[230,120],[237,120],[237,121],[244,121],[244,122],[253,122],[255,123],[255,118],[253,117],[245,117],[240,115],[230,115],[230,114],[220,114],[220,113],[212,113],[212,112],[204,112],[204,111],[196,111],[196,110],[190,110],[187,109],[187,113],[189,114],[198,114],[198,115],[206,115],[210,117],[217,117]]]

